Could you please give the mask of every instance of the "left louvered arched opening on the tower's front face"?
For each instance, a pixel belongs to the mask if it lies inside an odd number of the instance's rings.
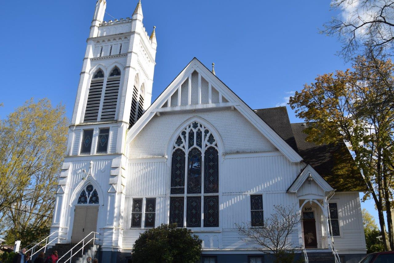
[[[97,118],[99,116],[100,99],[103,84],[104,73],[99,70],[93,76],[93,79],[90,83],[89,95],[87,96],[86,102],[84,122],[97,121]]]

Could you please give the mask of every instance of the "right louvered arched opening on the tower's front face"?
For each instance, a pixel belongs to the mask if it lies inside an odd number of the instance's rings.
[[[100,121],[112,121],[115,119],[120,82],[121,71],[114,67],[110,71],[110,76],[105,86]]]

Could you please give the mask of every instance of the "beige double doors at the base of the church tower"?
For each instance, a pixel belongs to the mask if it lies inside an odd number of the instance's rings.
[[[86,237],[90,232],[96,231],[98,213],[99,213],[98,205],[75,207],[74,225],[72,226],[71,243],[73,244],[78,243],[84,237]]]

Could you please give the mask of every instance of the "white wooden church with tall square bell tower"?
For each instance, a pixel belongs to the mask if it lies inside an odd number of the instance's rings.
[[[196,58],[151,102],[155,29],[140,2],[126,19],[103,21],[105,8],[98,0],[56,192],[59,243],[97,232],[100,262],[123,263],[140,233],[176,223],[203,240],[201,262],[267,263],[236,223],[261,226],[282,204],[305,218],[292,236],[300,256],[361,259],[365,187],[336,169],[352,163],[344,145],[305,142],[286,107],[252,110]]]

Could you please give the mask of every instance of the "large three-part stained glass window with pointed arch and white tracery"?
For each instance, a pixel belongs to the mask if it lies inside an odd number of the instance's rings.
[[[201,227],[201,218],[204,218],[204,227],[218,227],[218,192],[219,152],[216,139],[207,127],[194,121],[178,134],[173,144],[170,224],[177,223],[178,227],[183,227],[186,222],[186,227]]]

